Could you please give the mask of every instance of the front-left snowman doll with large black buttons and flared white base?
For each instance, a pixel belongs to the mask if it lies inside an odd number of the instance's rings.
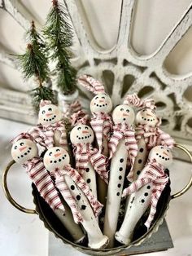
[[[69,155],[59,147],[50,148],[44,157],[44,164],[55,177],[56,188],[72,210],[76,223],[81,223],[88,235],[89,247],[101,249],[108,243],[95,217],[102,210],[101,205],[81,175],[69,164]]]

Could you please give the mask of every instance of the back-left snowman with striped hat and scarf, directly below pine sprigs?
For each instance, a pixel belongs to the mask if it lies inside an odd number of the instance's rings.
[[[50,100],[41,99],[38,123],[37,126],[28,130],[37,143],[46,148],[59,146],[68,150],[63,114],[58,106],[51,104]]]

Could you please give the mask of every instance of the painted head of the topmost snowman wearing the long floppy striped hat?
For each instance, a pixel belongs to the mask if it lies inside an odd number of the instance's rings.
[[[112,109],[112,102],[106,93],[100,93],[91,100],[90,111],[92,113],[110,113]]]

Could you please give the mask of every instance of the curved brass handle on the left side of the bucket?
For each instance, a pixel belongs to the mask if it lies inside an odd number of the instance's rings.
[[[19,205],[14,199],[13,197],[11,196],[11,193],[9,192],[9,189],[8,189],[8,186],[7,186],[7,174],[8,174],[8,171],[11,169],[11,166],[13,166],[15,164],[15,161],[12,160],[9,162],[9,164],[7,165],[6,169],[3,171],[3,174],[2,174],[2,188],[3,188],[3,191],[7,197],[7,200],[11,202],[11,205],[15,206],[16,209],[26,213],[26,214],[37,214],[37,211],[36,210],[31,210],[31,209],[28,209],[28,208],[25,208],[21,205]]]

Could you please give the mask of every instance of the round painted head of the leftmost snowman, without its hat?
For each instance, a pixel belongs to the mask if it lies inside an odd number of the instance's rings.
[[[18,164],[38,157],[38,149],[36,143],[30,139],[19,139],[11,148],[11,156]]]

